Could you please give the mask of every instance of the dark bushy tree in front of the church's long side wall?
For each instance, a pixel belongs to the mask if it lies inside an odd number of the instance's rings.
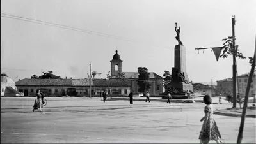
[[[145,67],[138,68],[138,82],[137,85],[139,86],[138,92],[145,92],[145,90],[150,89],[150,83],[147,82],[149,79],[150,73],[148,73],[148,69]]]

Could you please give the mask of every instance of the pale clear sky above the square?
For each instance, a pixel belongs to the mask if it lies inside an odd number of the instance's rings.
[[[174,66],[175,22],[186,47],[189,80],[232,78],[232,55],[195,48],[221,47],[232,36],[247,59],[237,73],[250,72],[256,37],[256,1],[204,0],[2,0],[1,73],[13,80],[53,71],[65,78],[106,78],[118,50],[123,72],[138,67],[163,76]],[[198,54],[199,53],[199,54]]]

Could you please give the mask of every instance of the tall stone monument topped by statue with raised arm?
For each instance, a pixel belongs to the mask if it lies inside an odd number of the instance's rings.
[[[193,92],[193,86],[189,83],[186,71],[186,47],[180,40],[180,27],[177,29],[177,23],[175,23],[175,31],[178,45],[175,45],[174,48],[174,67],[172,68],[172,80],[168,89],[170,89],[172,96],[187,96]]]

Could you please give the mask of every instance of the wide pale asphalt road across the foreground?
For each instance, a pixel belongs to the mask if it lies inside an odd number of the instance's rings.
[[[1,97],[1,143],[198,143],[203,103]],[[230,104],[214,108],[230,108]],[[225,143],[236,143],[241,117],[214,115]],[[255,118],[246,118],[243,143],[255,143]],[[215,143],[215,141],[211,141]]]

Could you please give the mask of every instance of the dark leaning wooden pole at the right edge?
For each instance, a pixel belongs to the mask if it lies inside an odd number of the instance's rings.
[[[256,37],[255,37],[255,49],[254,49],[254,55],[253,55],[253,61],[252,61],[252,68],[250,71],[250,76],[249,76],[249,80],[248,80],[246,92],[245,92],[245,97],[244,97],[244,107],[243,107],[243,112],[242,112],[242,117],[241,117],[241,122],[240,122],[240,127],[239,127],[239,133],[237,136],[237,144],[240,144],[243,139],[244,120],[245,120],[247,103],[248,103],[248,98],[249,98],[250,85],[252,83],[252,77],[254,75],[254,69],[255,69],[255,53],[256,53]]]

